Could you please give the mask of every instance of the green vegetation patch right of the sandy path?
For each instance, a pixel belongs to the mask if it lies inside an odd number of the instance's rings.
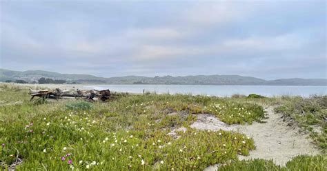
[[[327,148],[327,96],[284,97],[283,105],[275,109],[294,119],[301,128],[310,131],[311,137],[326,152]]]

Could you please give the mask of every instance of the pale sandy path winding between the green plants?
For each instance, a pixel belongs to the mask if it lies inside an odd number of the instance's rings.
[[[300,134],[300,129],[290,127],[281,119],[281,114],[273,111],[273,107],[265,108],[266,123],[252,123],[252,125],[227,125],[210,114],[198,114],[198,120],[190,125],[199,130],[231,130],[244,133],[255,141],[256,149],[250,151],[247,157],[239,159],[273,159],[277,165],[285,165],[293,157],[301,154],[319,154],[307,134]],[[217,170],[212,165],[206,170]]]

